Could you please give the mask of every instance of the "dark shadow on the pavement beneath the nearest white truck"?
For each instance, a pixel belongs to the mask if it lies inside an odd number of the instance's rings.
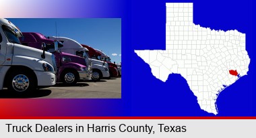
[[[39,98],[49,96],[51,92],[51,90],[35,90],[34,92],[30,92],[28,94],[15,94],[13,92],[9,92],[8,90],[0,90],[0,98]]]

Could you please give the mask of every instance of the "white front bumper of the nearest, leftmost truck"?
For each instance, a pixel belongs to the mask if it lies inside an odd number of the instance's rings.
[[[52,72],[34,71],[38,86],[53,86],[56,84],[56,76]]]

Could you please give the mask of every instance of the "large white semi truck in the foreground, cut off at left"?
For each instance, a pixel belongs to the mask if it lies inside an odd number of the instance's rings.
[[[56,83],[55,56],[45,50],[22,46],[22,32],[11,21],[0,19],[0,90],[16,94]],[[45,44],[40,44],[45,48]]]

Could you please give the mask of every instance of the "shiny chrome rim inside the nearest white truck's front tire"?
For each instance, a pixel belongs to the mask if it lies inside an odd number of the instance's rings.
[[[30,86],[30,80],[24,74],[18,74],[12,80],[12,87],[17,92],[24,92]]]

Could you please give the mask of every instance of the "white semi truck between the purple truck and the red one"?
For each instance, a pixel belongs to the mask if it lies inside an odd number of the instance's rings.
[[[110,72],[108,72],[108,64],[106,62],[93,60],[90,58],[88,55],[90,50],[88,50],[88,48],[84,48],[81,44],[70,38],[54,36],[48,38],[51,40],[59,40],[60,42],[63,42],[63,48],[61,49],[63,52],[88,58],[92,64],[92,80],[99,81],[101,78],[110,77]]]

